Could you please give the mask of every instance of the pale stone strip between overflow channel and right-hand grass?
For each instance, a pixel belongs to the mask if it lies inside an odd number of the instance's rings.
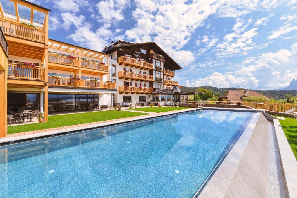
[[[279,120],[274,120],[273,126],[277,136],[277,144],[279,146],[289,196],[297,197],[297,160]]]

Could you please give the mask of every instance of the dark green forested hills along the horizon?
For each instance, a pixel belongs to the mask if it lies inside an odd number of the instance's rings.
[[[199,88],[205,88],[209,91],[211,91],[213,93],[213,95],[222,95],[225,92],[229,91],[229,90],[237,90],[238,88],[234,88],[234,87],[227,87],[227,88],[217,88],[217,87],[212,87],[212,86],[201,86],[201,87],[185,87],[183,86],[181,89],[185,90],[185,91],[197,91]],[[242,88],[239,88],[242,89]],[[292,89],[292,90],[281,90],[281,91],[277,91],[277,90],[253,90],[253,91],[257,91],[260,94],[263,94],[265,96],[267,96],[270,99],[285,99],[285,94],[291,94],[292,96],[297,96],[297,90],[296,89]]]

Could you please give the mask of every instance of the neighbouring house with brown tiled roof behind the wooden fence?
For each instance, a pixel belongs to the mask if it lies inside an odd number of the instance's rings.
[[[269,99],[267,96],[264,96],[252,90],[230,90],[230,91],[227,91],[225,94],[219,96],[218,101],[231,102],[233,104],[236,104],[237,102],[242,102],[244,98],[252,97],[252,96],[257,96],[257,97],[263,96]]]

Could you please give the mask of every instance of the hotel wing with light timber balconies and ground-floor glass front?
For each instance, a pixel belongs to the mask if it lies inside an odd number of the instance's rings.
[[[7,111],[38,109],[47,121],[48,112],[113,104],[116,83],[109,81],[110,56],[49,39],[49,12],[24,0],[0,0],[0,83],[5,99],[0,102],[0,125],[5,128],[0,137],[7,133]]]

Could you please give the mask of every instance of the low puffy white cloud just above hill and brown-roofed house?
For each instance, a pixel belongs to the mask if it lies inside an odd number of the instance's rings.
[[[235,77],[230,74],[222,74],[214,72],[205,78],[199,78],[198,80],[185,80],[186,86],[198,87],[198,86],[214,86],[214,87],[236,87],[240,85],[245,88],[254,88],[258,86],[259,80],[255,77]]]

